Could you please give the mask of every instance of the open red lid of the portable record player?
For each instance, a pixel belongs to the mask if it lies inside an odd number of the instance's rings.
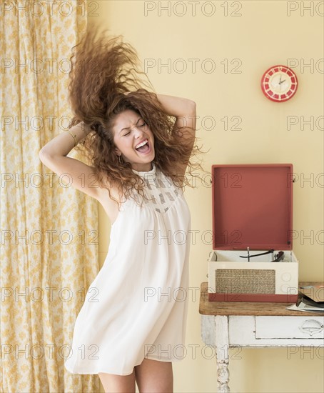
[[[213,249],[292,249],[293,165],[213,165]]]

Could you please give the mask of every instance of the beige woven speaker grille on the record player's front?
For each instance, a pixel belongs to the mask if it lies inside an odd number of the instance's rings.
[[[221,294],[275,294],[275,270],[217,269],[216,292]]]

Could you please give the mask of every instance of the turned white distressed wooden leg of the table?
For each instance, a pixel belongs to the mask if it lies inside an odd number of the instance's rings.
[[[231,392],[228,383],[228,317],[216,315],[216,358],[217,358],[217,392]]]

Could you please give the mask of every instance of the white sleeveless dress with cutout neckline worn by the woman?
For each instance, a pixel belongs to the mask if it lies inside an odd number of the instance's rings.
[[[152,166],[133,170],[151,200],[122,204],[76,318],[64,364],[73,374],[128,375],[144,358],[175,362],[186,354],[191,214],[182,189]]]

